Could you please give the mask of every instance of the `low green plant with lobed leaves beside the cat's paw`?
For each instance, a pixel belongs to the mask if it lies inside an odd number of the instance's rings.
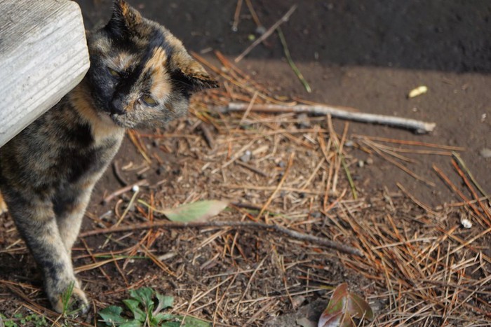
[[[210,323],[190,316],[161,312],[173,306],[174,298],[157,293],[152,288],[131,290],[130,298],[123,300],[126,308],[111,305],[100,310],[99,315],[105,326],[120,327],[209,327]]]

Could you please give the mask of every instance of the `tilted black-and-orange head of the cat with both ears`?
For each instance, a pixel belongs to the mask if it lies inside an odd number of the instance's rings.
[[[217,87],[180,40],[123,0],[87,39],[93,104],[122,127],[163,125],[187,113],[193,92]]]

